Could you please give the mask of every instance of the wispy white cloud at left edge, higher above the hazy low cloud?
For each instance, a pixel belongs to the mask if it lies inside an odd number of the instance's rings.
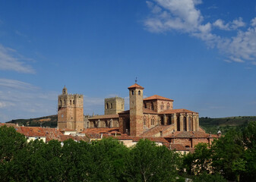
[[[19,55],[14,49],[6,48],[0,44],[0,70],[34,74],[33,68],[25,63],[28,60]]]

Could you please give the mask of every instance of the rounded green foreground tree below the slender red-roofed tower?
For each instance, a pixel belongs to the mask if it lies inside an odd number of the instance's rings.
[[[179,153],[150,140],[140,140],[127,155],[125,180],[175,181],[180,165]]]

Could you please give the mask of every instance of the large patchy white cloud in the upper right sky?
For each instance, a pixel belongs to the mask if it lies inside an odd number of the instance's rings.
[[[216,47],[226,55],[225,61],[245,62],[251,64],[256,60],[256,17],[251,20],[247,30],[239,30],[245,27],[242,17],[238,17],[228,23],[218,19],[213,23],[203,23],[204,17],[196,5],[201,1],[195,0],[154,0],[147,2],[148,7],[153,12],[153,8],[159,7],[158,11],[150,14],[144,21],[147,30],[156,33],[166,31],[179,31],[188,33],[202,39],[210,48]],[[236,30],[237,35],[233,37],[223,37],[213,33],[212,27],[221,30]]]

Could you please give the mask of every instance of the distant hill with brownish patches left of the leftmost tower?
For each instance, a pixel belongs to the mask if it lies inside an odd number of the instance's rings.
[[[57,115],[49,115],[41,118],[16,119],[7,123],[24,125],[24,127],[57,127]]]

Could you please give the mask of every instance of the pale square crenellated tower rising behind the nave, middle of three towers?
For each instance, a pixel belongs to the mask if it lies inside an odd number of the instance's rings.
[[[125,110],[125,99],[115,96],[105,99],[105,115],[117,115]]]

